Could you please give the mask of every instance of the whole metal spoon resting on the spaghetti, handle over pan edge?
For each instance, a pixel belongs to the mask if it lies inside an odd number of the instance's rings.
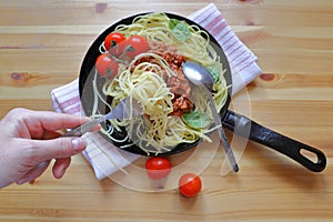
[[[213,89],[213,84],[214,84],[213,77],[205,68],[203,68],[202,65],[200,65],[199,63],[195,63],[195,62],[185,61],[183,63],[182,68],[183,68],[184,74],[193,84],[201,87],[203,90],[206,91],[206,94],[209,97],[210,108],[211,108],[211,111],[213,114],[214,123],[215,123],[215,125],[220,125],[220,128],[218,128],[220,140],[224,147],[224,150],[226,152],[229,162],[232,165],[233,171],[238,172],[239,165],[234,159],[234,154],[231,150],[230,143],[228,141],[228,138],[225,135],[225,132],[224,132],[222,123],[221,123],[221,118],[218,114],[218,111],[216,111],[216,108],[215,108],[215,104],[214,104],[214,101],[212,98],[212,89]]]

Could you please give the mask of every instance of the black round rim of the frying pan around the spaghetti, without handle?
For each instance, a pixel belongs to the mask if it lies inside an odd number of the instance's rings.
[[[89,79],[89,74],[90,74],[91,70],[93,69],[93,67],[94,67],[95,59],[100,54],[99,53],[99,47],[100,47],[100,44],[103,42],[103,40],[105,39],[105,37],[110,32],[112,32],[114,30],[114,28],[117,26],[119,26],[121,23],[125,23],[125,24],[132,23],[132,20],[135,17],[148,14],[148,13],[151,13],[151,12],[142,12],[142,13],[138,13],[138,14],[132,14],[130,17],[127,17],[124,19],[121,19],[121,20],[114,22],[108,29],[105,29],[101,34],[99,34],[98,38],[93,41],[93,43],[90,46],[90,48],[89,48],[88,52],[85,53],[85,57],[84,57],[84,59],[82,61],[81,70],[80,70],[80,75],[79,75],[79,93],[80,93],[80,99],[81,99],[83,111],[84,111],[84,113],[87,115],[90,115],[91,112],[88,109],[89,101],[87,101],[84,99],[83,89],[87,88],[87,85],[85,85],[87,79]],[[175,13],[170,13],[170,12],[163,12],[163,13],[165,13],[169,18],[173,18],[173,19],[178,19],[178,20],[184,20],[189,24],[195,24],[200,29],[205,30],[203,27],[201,27],[196,22],[194,22],[194,21],[192,21],[192,20],[190,20],[188,18],[184,18],[182,16],[179,16],[179,14],[175,14]],[[218,43],[218,41],[215,40],[215,38],[212,37],[210,32],[208,32],[208,33],[210,36],[210,41],[213,43],[213,46],[216,46],[216,47],[214,47],[214,49],[219,52],[220,58],[221,58],[221,62],[223,63],[223,68],[226,70],[225,73],[224,73],[224,78],[226,80],[226,84],[230,85],[230,88],[228,89],[228,91],[229,91],[228,100],[226,100],[224,107],[222,108],[222,110],[220,112],[221,117],[223,117],[225,114],[225,112],[228,111],[228,107],[229,107],[230,101],[231,101],[231,98],[230,98],[230,94],[231,94],[231,91],[232,91],[232,87],[231,87],[232,85],[231,70],[230,70],[229,61],[228,61],[228,59],[226,59],[226,57],[225,57],[225,54],[223,52],[223,49],[220,47],[220,44]],[[101,132],[99,132],[99,133],[105,140],[108,140],[109,142],[112,142],[115,147],[124,144],[124,143],[117,144],[113,141],[111,141],[110,138],[108,138],[103,133],[101,133]],[[184,151],[186,151],[186,150],[189,150],[189,149],[194,148],[195,145],[198,145],[198,143],[201,140],[196,140],[193,143],[181,143],[176,148],[174,148],[173,150],[171,150],[169,152],[164,152],[164,153],[159,153],[158,155],[162,157],[162,155],[171,155],[171,154],[184,152]],[[124,148],[124,149],[119,148],[119,149],[128,151],[128,152],[131,152],[131,153],[134,153],[134,154],[140,154],[140,155],[157,155],[153,152],[151,152],[151,153],[148,154],[145,151],[143,151],[142,149],[140,149],[137,145],[131,145],[131,147],[128,147],[128,148]]]

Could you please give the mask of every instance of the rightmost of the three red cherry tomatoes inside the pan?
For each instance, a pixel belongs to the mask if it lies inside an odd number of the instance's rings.
[[[127,57],[133,59],[135,56],[148,52],[149,44],[144,37],[142,36],[132,36],[124,41]]]

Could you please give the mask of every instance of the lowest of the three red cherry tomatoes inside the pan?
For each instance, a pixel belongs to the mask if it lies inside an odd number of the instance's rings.
[[[113,78],[118,73],[119,63],[112,58],[110,53],[102,53],[95,61],[95,69],[100,75]]]

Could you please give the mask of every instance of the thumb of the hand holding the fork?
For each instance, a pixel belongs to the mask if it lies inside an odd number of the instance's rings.
[[[34,140],[34,158],[39,161],[69,158],[85,149],[83,138],[57,138],[52,140]]]

